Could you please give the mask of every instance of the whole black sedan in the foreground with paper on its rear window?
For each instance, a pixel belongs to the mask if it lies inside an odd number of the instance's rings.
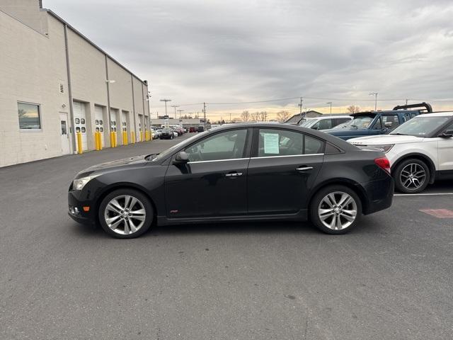
[[[151,225],[239,220],[311,220],[343,234],[361,215],[390,207],[389,169],[382,152],[316,130],[224,125],[161,154],[81,171],[69,187],[69,215],[118,238]]]

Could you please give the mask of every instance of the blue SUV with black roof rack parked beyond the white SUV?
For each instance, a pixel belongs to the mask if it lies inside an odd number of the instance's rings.
[[[419,108],[418,110],[407,110],[408,108]],[[418,103],[404,106],[396,106],[389,111],[368,111],[352,113],[352,120],[341,129],[324,130],[329,135],[336,136],[342,140],[349,140],[355,137],[373,135],[385,135],[391,132],[407,120],[420,115],[430,113],[432,108],[428,103]]]

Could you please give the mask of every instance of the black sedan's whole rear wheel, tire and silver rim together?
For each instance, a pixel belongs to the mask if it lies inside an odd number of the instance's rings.
[[[329,198],[332,195],[333,200]],[[342,200],[346,200],[347,209]],[[360,220],[362,202],[357,193],[347,186],[327,186],[315,194],[311,200],[309,212],[311,223],[322,232],[335,235],[346,234],[354,229]]]

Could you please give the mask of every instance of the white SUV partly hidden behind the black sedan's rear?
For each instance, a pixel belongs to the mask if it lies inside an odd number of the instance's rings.
[[[453,112],[418,115],[389,135],[348,142],[385,152],[395,187],[403,193],[420,193],[436,179],[453,179]]]

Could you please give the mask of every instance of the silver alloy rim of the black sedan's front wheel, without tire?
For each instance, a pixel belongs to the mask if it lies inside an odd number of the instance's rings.
[[[147,212],[142,202],[130,195],[117,196],[105,206],[106,225],[121,235],[137,232],[143,227]]]

